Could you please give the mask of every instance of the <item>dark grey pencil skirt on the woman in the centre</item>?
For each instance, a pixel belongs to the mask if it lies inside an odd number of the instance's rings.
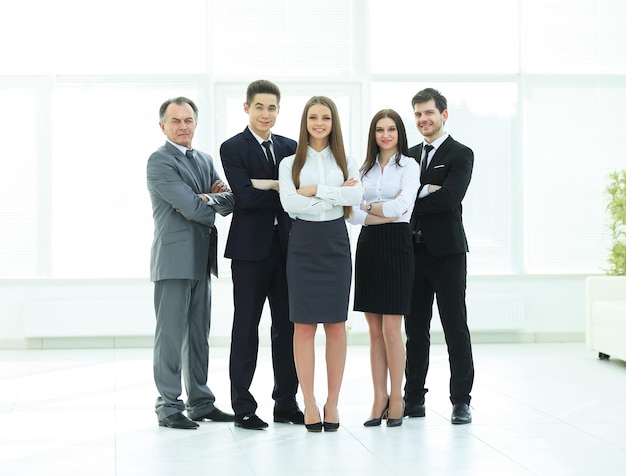
[[[346,321],[351,279],[345,220],[295,220],[287,248],[289,319],[306,324]]]

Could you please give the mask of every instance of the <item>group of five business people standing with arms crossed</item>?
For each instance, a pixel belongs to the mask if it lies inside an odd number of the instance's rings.
[[[420,91],[413,108],[424,144],[409,150],[400,116],[380,111],[372,119],[367,156],[359,168],[346,156],[332,99],[315,96],[307,102],[296,142],[271,130],[280,109],[278,86],[254,81],[244,103],[248,126],[220,147],[229,188],[211,157],[191,147],[198,120],[193,101],[179,97],[163,103],[159,121],[166,143],[147,167],[155,224],[153,361],[160,426],[194,429],[203,420],[234,421],[250,430],[268,426],[250,392],[258,327],[268,301],[274,422],[303,424],[311,432],[339,428],[352,279],[346,221],[363,225],[354,309],[365,313],[371,339],[374,403],[365,425],[377,426],[386,418],[387,426],[400,426],[404,416],[425,415],[435,295],[450,355],[452,423],[471,421],[468,248],[461,201],[473,153],[445,132],[448,113],[441,94]],[[234,415],[215,406],[207,385],[216,213],[232,213],[225,256],[231,259],[234,300],[229,365]],[[326,335],[323,412],[314,395],[318,324]],[[304,411],[296,401],[298,385]]]

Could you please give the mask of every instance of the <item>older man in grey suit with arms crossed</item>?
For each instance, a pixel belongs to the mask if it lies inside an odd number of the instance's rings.
[[[156,311],[156,414],[160,426],[195,429],[196,421],[234,420],[215,406],[207,385],[211,274],[217,276],[215,213],[231,213],[234,198],[211,157],[191,149],[198,121],[193,101],[165,101],[159,119],[167,141],[147,167],[154,217],[150,278]],[[181,371],[186,403],[180,399]]]

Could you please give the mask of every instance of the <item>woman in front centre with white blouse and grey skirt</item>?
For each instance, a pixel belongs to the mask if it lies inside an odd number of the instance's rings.
[[[287,283],[308,431],[339,428],[337,405],[352,278],[345,219],[363,196],[358,175],[358,164],[346,157],[335,103],[324,96],[312,97],[302,113],[296,153],[281,161],[278,176],[281,203],[295,219],[287,249]],[[314,394],[318,323],[326,334],[328,396],[323,423]]]

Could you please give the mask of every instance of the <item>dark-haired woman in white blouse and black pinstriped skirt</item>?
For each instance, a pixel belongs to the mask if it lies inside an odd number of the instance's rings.
[[[360,169],[364,196],[350,219],[363,225],[355,258],[354,310],[363,311],[370,333],[374,403],[365,426],[402,425],[405,354],[402,316],[410,311],[413,242],[409,221],[419,188],[419,166],[408,157],[400,115],[383,109],[372,119]],[[387,380],[390,391],[387,390]]]

